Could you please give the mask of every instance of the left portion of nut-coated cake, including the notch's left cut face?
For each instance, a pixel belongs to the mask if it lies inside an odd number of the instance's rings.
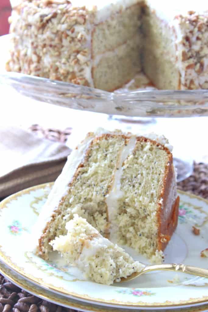
[[[115,90],[141,71],[140,16],[138,0],[22,1],[7,70]]]

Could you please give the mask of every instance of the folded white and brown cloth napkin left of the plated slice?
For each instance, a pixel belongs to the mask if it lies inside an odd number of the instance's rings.
[[[0,197],[54,181],[70,151],[29,131],[0,126]]]

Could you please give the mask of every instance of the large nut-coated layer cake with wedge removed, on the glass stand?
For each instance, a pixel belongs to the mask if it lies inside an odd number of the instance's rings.
[[[25,0],[8,71],[112,91],[143,71],[158,89],[208,88],[206,2]]]

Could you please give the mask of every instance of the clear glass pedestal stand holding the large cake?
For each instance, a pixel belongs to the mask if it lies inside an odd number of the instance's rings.
[[[97,118],[95,113],[105,114],[106,122],[99,124],[101,127],[141,134],[148,132],[164,134],[174,146],[173,156],[178,181],[191,174],[193,169],[191,150],[188,150],[187,144],[185,147],[188,133],[184,131],[184,124],[180,120],[181,117],[208,116],[208,90],[156,90],[146,83],[145,88],[134,90],[134,86],[128,84],[115,92],[107,92],[6,72],[4,67],[8,59],[9,35],[0,37],[0,43],[3,50],[0,61],[0,83],[10,86],[23,96],[41,102],[80,110],[80,113],[93,112],[92,118],[95,119]]]

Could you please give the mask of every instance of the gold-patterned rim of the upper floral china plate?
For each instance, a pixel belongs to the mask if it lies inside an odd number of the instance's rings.
[[[12,200],[16,200],[18,197],[22,196],[23,194],[29,194],[31,193],[32,191],[36,190],[36,189],[42,189],[42,188],[46,188],[47,186],[52,186],[54,182],[50,182],[50,183],[42,183],[42,184],[39,184],[39,185],[36,185],[36,186],[32,186],[30,188],[26,188],[22,191],[19,191],[15,194],[12,194],[10,195],[9,197],[5,198],[2,202],[0,202],[0,210],[1,209],[4,209],[6,208],[7,204],[9,202],[11,202]],[[204,199],[202,197],[199,197],[197,195],[194,195],[192,193],[188,193],[188,192],[184,192],[184,191],[181,191],[181,190],[177,190],[178,193],[181,193],[181,194],[184,194],[184,195],[187,195],[188,197],[190,198],[196,198],[198,200],[201,200],[203,202],[205,202],[207,205],[208,205],[208,200],[207,199]],[[51,284],[47,284],[45,283],[44,281],[41,281],[40,282],[40,279],[36,279],[34,278],[32,275],[30,274],[25,274],[24,271],[22,271],[21,269],[19,269],[19,267],[17,267],[11,260],[8,256],[6,256],[3,251],[1,250],[1,245],[0,245],[0,260],[6,264],[6,266],[8,266],[10,269],[12,269],[14,272],[16,272],[17,274],[21,275],[22,277],[24,277],[25,279],[28,279],[31,281],[31,283],[34,283],[35,285],[43,288],[43,289],[46,289],[46,290],[50,290],[51,292],[55,292],[55,293],[58,293],[62,296],[70,296],[72,299],[75,299],[75,300],[85,300],[85,302],[87,301],[88,303],[94,303],[94,304],[104,304],[105,306],[107,304],[110,304],[110,305],[119,305],[119,306],[122,306],[122,307],[138,307],[138,308],[145,308],[145,307],[148,307],[148,308],[154,308],[154,307],[157,307],[157,308],[169,308],[169,307],[177,307],[177,306],[186,306],[186,305],[197,305],[197,304],[205,304],[206,302],[208,302],[208,296],[203,296],[203,299],[202,297],[201,298],[190,298],[189,300],[180,300],[180,301],[169,301],[167,300],[166,302],[164,303],[161,303],[161,302],[154,302],[154,303],[151,303],[151,304],[148,304],[148,303],[145,303],[142,302],[142,301],[138,301],[138,302],[135,302],[135,303],[132,303],[132,302],[125,302],[123,303],[122,301],[117,301],[117,300],[104,300],[104,299],[101,299],[101,298],[93,298],[89,295],[79,295],[77,293],[74,293],[74,292],[68,292],[66,291],[65,289],[60,289],[60,287],[54,287],[54,285],[51,285]],[[68,297],[68,298],[70,298]],[[90,301],[91,302],[90,302]]]

